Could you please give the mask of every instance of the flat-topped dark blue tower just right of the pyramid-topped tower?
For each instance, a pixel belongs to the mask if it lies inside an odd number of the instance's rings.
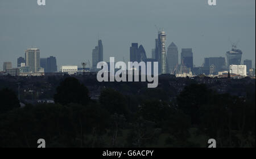
[[[181,65],[185,65],[187,68],[193,69],[193,53],[192,49],[181,49]]]

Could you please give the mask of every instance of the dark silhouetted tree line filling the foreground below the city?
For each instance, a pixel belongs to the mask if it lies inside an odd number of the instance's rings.
[[[246,98],[193,83],[170,101],[172,93],[156,88],[129,96],[105,88],[94,101],[79,80],[67,77],[56,88],[55,104],[19,108],[16,94],[5,88],[0,147],[36,147],[40,138],[47,147],[206,147],[210,138],[217,147],[255,147],[255,84]]]

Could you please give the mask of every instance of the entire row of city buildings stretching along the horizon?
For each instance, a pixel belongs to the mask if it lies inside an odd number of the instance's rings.
[[[155,39],[155,48],[152,49],[152,57],[147,58],[146,51],[142,45],[132,43],[130,47],[131,62],[158,62],[159,74],[174,74],[176,76],[192,76],[192,75],[220,75],[220,72],[242,72],[247,75],[254,72],[252,61],[246,59],[241,66],[242,51],[232,45],[232,49],[226,52],[225,57],[207,57],[204,58],[204,64],[201,67],[193,65],[192,48],[183,48],[180,53],[174,42],[168,46],[166,51],[166,32],[158,31],[158,38]],[[92,50],[92,68],[86,71],[97,72],[97,63],[103,61],[103,45],[102,40],[98,40],[98,45]],[[89,62],[89,61],[88,61]],[[147,66],[146,66],[147,67]],[[151,65],[153,70],[154,65]],[[89,70],[88,70],[89,69]],[[85,68],[78,66],[61,66],[60,72],[68,74],[79,74],[84,72]],[[39,49],[25,50],[25,58],[17,59],[17,68],[13,68],[11,62],[3,63],[3,71],[10,75],[42,75],[44,72],[57,72],[56,58],[40,58]]]

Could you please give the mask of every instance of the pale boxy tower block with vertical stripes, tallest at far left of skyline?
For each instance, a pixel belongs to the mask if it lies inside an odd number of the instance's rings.
[[[40,50],[27,49],[25,50],[26,66],[29,66],[32,72],[40,70]]]

